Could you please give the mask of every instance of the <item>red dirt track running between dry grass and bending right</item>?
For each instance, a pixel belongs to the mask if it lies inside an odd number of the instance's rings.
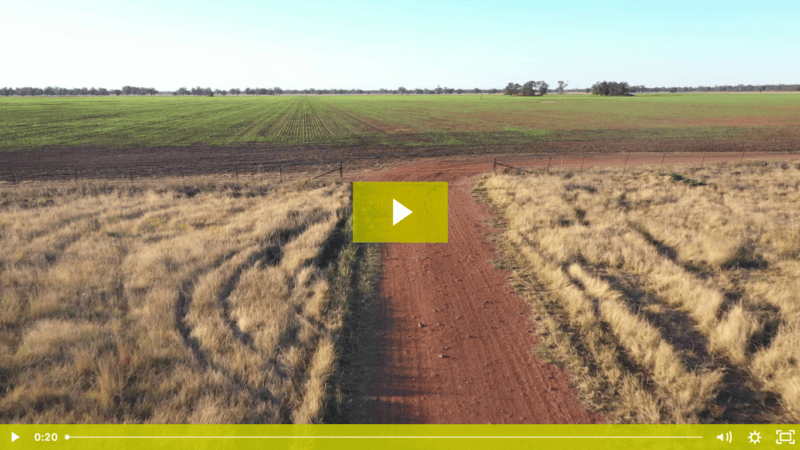
[[[760,159],[796,159],[762,154]],[[663,155],[594,155],[553,161],[515,155],[507,164],[532,168],[660,164]],[[626,162],[627,159],[627,162]],[[713,161],[741,159],[713,154]],[[711,162],[700,154],[671,155],[668,164]],[[500,160],[498,161],[500,162]],[[537,344],[530,307],[494,268],[485,236],[492,209],[470,194],[475,175],[491,171],[492,157],[418,161],[353,181],[446,181],[447,244],[386,244],[382,313],[376,337],[380,365],[370,388],[369,416],[378,423],[597,423],[568,387],[569,376],[531,354]],[[424,326],[420,327],[420,323]]]

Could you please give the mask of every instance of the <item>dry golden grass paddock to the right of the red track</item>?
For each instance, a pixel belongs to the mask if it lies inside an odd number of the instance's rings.
[[[611,420],[796,422],[800,165],[673,170],[505,173],[478,189],[507,220],[501,248],[543,341]]]

